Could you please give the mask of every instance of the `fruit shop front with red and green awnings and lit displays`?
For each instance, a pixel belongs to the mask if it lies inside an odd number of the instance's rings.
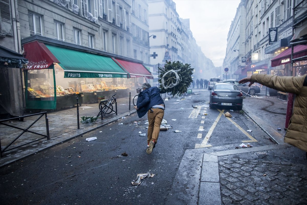
[[[33,41],[24,44],[27,109],[60,109],[129,97],[151,73],[137,61]]]

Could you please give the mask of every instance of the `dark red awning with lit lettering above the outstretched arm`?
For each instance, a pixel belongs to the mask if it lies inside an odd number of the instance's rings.
[[[293,59],[298,57],[307,56],[307,45],[296,45],[293,48]],[[278,65],[283,65],[291,63],[291,48],[286,49],[278,56],[271,60],[271,66],[275,67]]]

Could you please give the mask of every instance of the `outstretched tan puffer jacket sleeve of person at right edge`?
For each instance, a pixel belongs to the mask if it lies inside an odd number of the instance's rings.
[[[304,76],[276,76],[267,74],[253,74],[251,80],[266,87],[273,88],[282,92],[300,94],[303,87]]]

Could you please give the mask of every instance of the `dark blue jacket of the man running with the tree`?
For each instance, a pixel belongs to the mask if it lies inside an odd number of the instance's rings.
[[[138,100],[136,102],[136,106],[138,107],[137,113],[139,118],[144,116],[152,106],[157,104],[164,104],[164,101],[161,98],[160,94],[161,90],[156,86],[147,88],[143,90],[141,93],[139,93]]]

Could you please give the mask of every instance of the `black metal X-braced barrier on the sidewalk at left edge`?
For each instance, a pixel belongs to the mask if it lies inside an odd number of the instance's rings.
[[[40,115],[40,116],[39,116],[32,124],[30,124],[30,125],[29,125],[27,128],[25,128],[25,129],[19,128],[19,127],[16,127],[16,126],[13,126],[13,125],[5,124],[5,123],[4,123],[4,122],[6,122],[6,121],[17,120],[17,119],[19,120],[19,119],[21,119],[21,118],[30,117],[30,116],[35,116],[35,115]],[[45,120],[46,120],[46,131],[47,131],[47,135],[43,135],[43,134],[40,134],[40,133],[37,133],[37,132],[32,132],[32,131],[30,131],[29,128],[31,128],[32,125],[35,124],[35,123],[36,123],[39,119],[41,119],[41,117],[44,116],[44,115],[45,115]],[[15,139],[14,139],[13,141],[11,141],[10,144],[8,144],[4,149],[2,149],[2,147],[1,147],[1,139],[0,139],[0,156],[1,156],[1,157],[2,157],[2,153],[8,152],[8,151],[10,151],[10,150],[12,150],[12,149],[16,149],[16,148],[18,148],[18,147],[24,146],[24,145],[26,145],[26,144],[30,144],[30,143],[32,143],[32,142],[36,142],[36,141],[41,140],[41,139],[44,139],[44,138],[47,138],[47,140],[50,139],[50,138],[49,138],[49,124],[48,124],[47,112],[40,112],[40,113],[36,113],[36,114],[25,115],[25,116],[19,116],[19,117],[14,117],[14,118],[6,119],[6,120],[0,120],[0,124],[5,125],[5,126],[8,126],[8,127],[11,127],[11,128],[16,128],[16,129],[22,130],[22,132],[21,132],[17,137],[15,137]],[[40,139],[33,140],[33,141],[28,142],[28,143],[25,143],[25,144],[21,144],[21,145],[19,145],[19,146],[17,146],[17,147],[14,147],[14,148],[11,148],[11,149],[8,149],[8,150],[7,150],[7,148],[8,148],[11,144],[13,144],[13,143],[14,143],[22,134],[24,134],[25,132],[30,132],[30,133],[37,134],[37,135],[44,136],[44,137],[42,137],[42,138],[40,138]]]

